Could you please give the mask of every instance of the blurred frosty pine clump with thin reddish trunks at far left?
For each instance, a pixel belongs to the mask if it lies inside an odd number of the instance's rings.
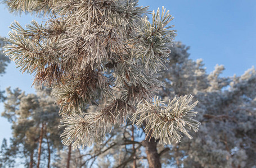
[[[14,91],[7,88],[2,116],[12,123],[12,138],[10,147],[3,143],[1,167],[12,167],[17,157],[27,167],[50,167],[54,158],[51,155],[62,148],[59,107],[50,93],[50,89],[43,88],[36,95],[26,95],[19,88]]]

